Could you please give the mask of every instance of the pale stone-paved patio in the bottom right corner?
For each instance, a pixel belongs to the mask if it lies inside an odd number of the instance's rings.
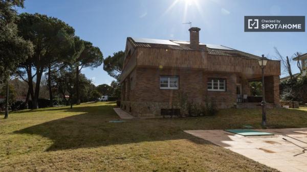
[[[282,139],[286,138],[303,148],[307,148],[307,128],[257,131],[275,135],[244,137],[223,130],[188,130],[185,132],[280,171],[307,172],[307,151],[303,153],[301,148]]]

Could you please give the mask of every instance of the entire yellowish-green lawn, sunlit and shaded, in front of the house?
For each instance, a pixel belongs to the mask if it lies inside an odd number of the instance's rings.
[[[0,115],[0,171],[276,171],[183,130],[260,128],[260,109],[216,116],[129,119],[114,103]],[[268,125],[307,127],[305,109],[269,109]]]

